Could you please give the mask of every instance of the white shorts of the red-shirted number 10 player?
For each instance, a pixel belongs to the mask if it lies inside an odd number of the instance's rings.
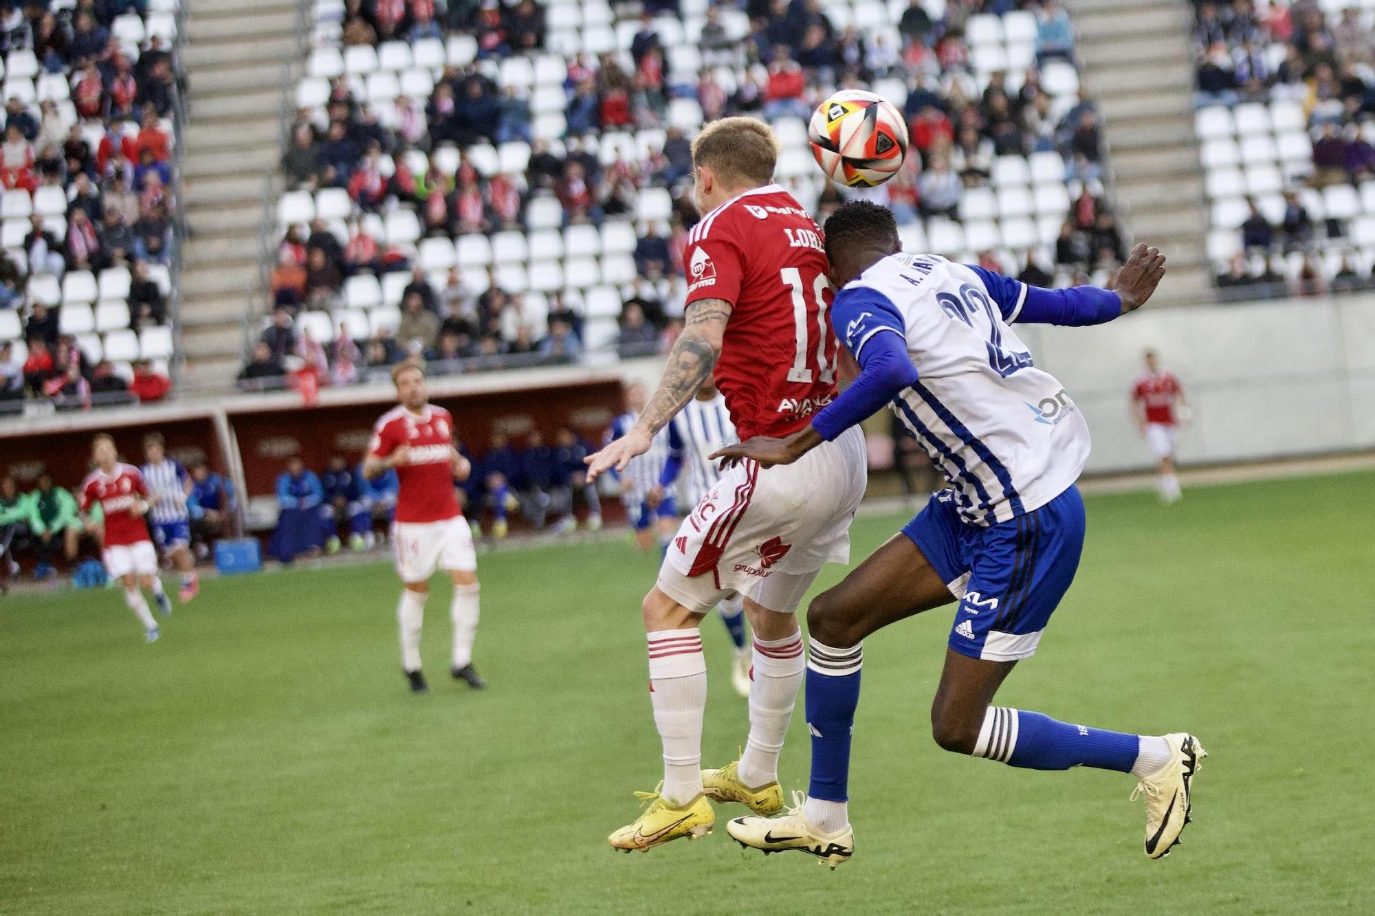
[[[866,483],[857,426],[791,465],[727,468],[678,528],[659,589],[697,613],[732,591],[792,613],[822,564],[850,563],[850,523]]]

